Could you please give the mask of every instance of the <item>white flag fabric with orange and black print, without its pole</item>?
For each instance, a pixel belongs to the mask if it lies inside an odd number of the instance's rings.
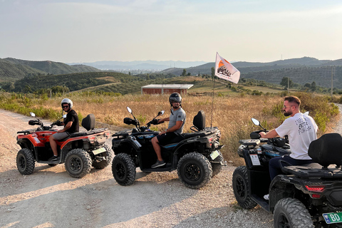
[[[238,83],[240,79],[240,71],[234,68],[227,60],[216,53],[215,76],[232,83]]]

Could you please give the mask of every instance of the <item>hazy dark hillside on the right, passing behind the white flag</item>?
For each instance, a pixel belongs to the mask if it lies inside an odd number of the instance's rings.
[[[342,59],[335,61],[320,61],[316,58],[291,58],[284,61],[270,63],[232,63],[240,72],[241,78],[254,78],[279,84],[284,77],[291,78],[294,83],[304,86],[305,83],[316,82],[318,86],[331,87],[331,66],[333,70],[333,86],[342,89]],[[191,75],[211,75],[214,63],[206,63],[201,66],[185,68]],[[169,68],[162,73],[173,73],[176,76],[182,74],[183,68]]]

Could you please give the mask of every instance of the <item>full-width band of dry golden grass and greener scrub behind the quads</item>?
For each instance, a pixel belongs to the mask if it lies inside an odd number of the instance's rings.
[[[81,94],[81,95],[80,95]],[[339,118],[336,105],[328,103],[323,96],[315,96],[307,93],[299,93],[302,100],[301,111],[309,110],[318,124],[318,136],[331,131],[331,126]],[[152,120],[160,110],[165,110],[165,117],[170,115],[169,95],[85,95],[84,93],[71,93],[67,95],[73,100],[73,108],[78,113],[80,119],[89,113],[95,115],[96,121],[115,125],[121,128],[133,128],[133,125],[125,125],[123,118],[132,117],[126,107],[133,110],[135,118],[140,120],[140,125],[145,125]],[[12,98],[7,110],[28,115],[31,109],[45,108],[48,112],[61,112],[61,100],[56,97],[52,99],[24,98],[22,100]],[[11,108],[15,103],[16,110]],[[20,110],[25,106],[26,109]],[[257,118],[261,125],[267,130],[276,128],[284,121],[281,113],[283,98],[279,95],[184,95],[182,108],[187,113],[185,132],[190,132],[192,120],[199,110],[206,113],[206,126],[217,126],[222,132],[221,142],[225,145],[222,153],[225,160],[232,165],[242,165],[244,161],[237,155],[239,140],[249,138],[253,130],[260,130],[253,125],[251,118]],[[49,111],[51,110],[51,111]],[[39,110],[40,111],[40,110]],[[27,112],[27,113],[26,113]],[[41,113],[44,113],[42,111]],[[46,111],[45,111],[46,113]],[[58,114],[58,116],[61,116]],[[39,116],[45,118],[44,116]],[[51,118],[51,116],[50,116]],[[53,115],[56,118],[56,114]],[[164,130],[167,123],[153,125],[152,130]]]

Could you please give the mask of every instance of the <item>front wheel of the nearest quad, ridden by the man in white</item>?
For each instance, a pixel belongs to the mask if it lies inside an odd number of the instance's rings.
[[[232,184],[235,199],[242,208],[252,209],[257,206],[249,192],[246,166],[239,166],[234,170]]]

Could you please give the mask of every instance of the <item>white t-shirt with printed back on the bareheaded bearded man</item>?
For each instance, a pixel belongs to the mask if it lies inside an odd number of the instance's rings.
[[[290,157],[299,160],[310,160],[308,155],[309,145],[317,139],[317,125],[315,120],[309,115],[296,113],[293,117],[284,120],[276,133],[280,137],[289,135],[289,144],[291,148]]]

